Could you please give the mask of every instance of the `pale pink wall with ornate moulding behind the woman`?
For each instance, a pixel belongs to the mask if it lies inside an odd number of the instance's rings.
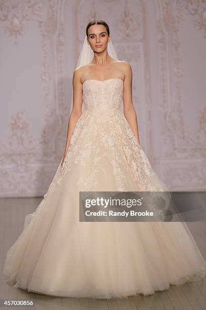
[[[192,3],[192,4],[191,4]],[[206,187],[206,4],[2,1],[0,195],[43,195],[65,148],[72,73],[90,19],[133,69],[140,144],[171,190]]]

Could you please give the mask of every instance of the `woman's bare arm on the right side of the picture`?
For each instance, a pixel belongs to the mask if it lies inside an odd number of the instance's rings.
[[[137,116],[132,103],[132,68],[129,63],[125,64],[123,103],[125,119],[129,123],[137,142],[139,143]]]

